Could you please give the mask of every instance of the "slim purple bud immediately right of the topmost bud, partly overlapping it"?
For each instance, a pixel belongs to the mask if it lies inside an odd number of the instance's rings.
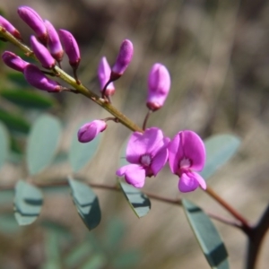
[[[48,48],[50,50],[50,53],[56,59],[57,62],[61,62],[64,56],[64,50],[60,42],[58,33],[50,22],[45,20],[44,23],[48,30]]]

